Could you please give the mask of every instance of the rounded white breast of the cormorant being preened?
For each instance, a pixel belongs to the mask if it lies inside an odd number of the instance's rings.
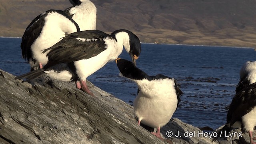
[[[167,124],[174,114],[178,99],[171,79],[135,80],[140,92],[134,100],[134,114],[143,124],[157,128]]]

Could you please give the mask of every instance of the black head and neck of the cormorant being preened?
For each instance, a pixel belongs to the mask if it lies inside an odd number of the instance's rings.
[[[118,58],[116,59],[116,64],[121,74],[126,78],[131,78],[133,80],[143,80],[144,78],[152,79],[128,60]]]

